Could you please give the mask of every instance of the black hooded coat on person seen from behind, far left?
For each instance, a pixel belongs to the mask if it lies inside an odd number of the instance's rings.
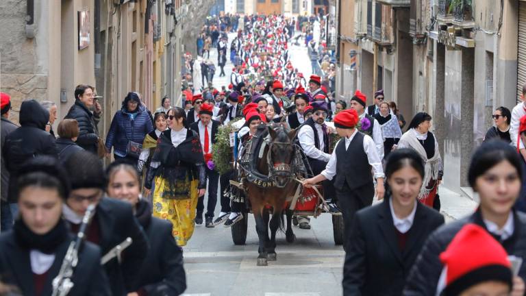
[[[27,160],[39,155],[57,157],[55,138],[45,131],[49,112],[35,100],[23,101],[20,124],[5,137],[2,156],[10,173],[8,201],[16,202],[18,170]]]

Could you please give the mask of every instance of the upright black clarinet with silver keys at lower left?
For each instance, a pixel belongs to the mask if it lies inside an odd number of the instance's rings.
[[[84,242],[86,228],[90,224],[92,218],[92,212],[95,210],[95,205],[88,206],[84,217],[82,218],[82,223],[79,227],[79,232],[77,233],[77,238],[72,240],[69,244],[68,251],[66,251],[66,256],[62,260],[62,266],[60,267],[60,272],[53,279],[53,296],[66,296],[68,295],[71,288],[73,288],[74,283],[71,281],[73,277],[73,272],[77,266],[79,260],[78,253],[79,249]]]

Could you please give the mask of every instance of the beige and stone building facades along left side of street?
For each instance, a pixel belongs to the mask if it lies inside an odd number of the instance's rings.
[[[26,99],[53,101],[64,118],[78,84],[103,96],[101,132],[129,91],[150,110],[164,95],[180,97],[181,0],[23,3],[0,2],[0,89],[12,96],[15,121]]]

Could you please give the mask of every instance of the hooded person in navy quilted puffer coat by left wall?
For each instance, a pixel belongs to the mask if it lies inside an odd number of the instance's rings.
[[[106,138],[106,149],[114,147],[115,159],[124,159],[136,163],[142,142],[153,131],[151,119],[145,106],[140,103],[137,93],[128,93],[121,110],[113,116],[112,125]]]

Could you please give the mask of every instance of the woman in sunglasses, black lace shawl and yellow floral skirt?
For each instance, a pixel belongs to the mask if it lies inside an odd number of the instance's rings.
[[[205,194],[206,172],[201,141],[186,123],[183,108],[168,111],[170,130],[162,132],[150,162],[145,193],[153,191],[153,216],[171,221],[177,245],[194,232],[197,199]]]

